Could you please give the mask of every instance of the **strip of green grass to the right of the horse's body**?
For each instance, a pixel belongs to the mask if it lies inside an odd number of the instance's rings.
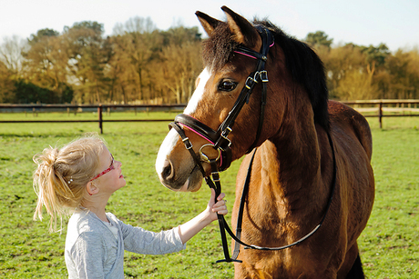
[[[361,236],[370,278],[419,278],[419,117],[373,127],[375,202]]]

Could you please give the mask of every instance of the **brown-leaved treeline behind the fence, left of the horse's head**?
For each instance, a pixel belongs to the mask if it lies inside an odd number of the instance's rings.
[[[0,103],[186,103],[202,70],[198,27],[131,18],[104,37],[81,22],[0,48]]]

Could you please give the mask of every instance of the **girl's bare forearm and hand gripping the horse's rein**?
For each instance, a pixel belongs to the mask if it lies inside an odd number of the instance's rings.
[[[188,221],[185,224],[179,225],[179,236],[182,241],[182,244],[185,244],[192,238],[195,234],[198,234],[200,230],[209,225],[212,221],[218,219],[217,214],[227,214],[227,206],[223,200],[225,194],[221,193],[217,197],[217,204],[214,202],[215,191],[211,189],[211,198],[210,202],[207,205],[207,209],[200,213],[198,216]]]

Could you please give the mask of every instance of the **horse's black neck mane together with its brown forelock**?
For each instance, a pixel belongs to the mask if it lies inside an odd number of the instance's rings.
[[[285,55],[286,66],[293,80],[303,85],[312,102],[314,122],[329,130],[329,113],[327,110],[328,90],[324,65],[309,45],[286,35],[280,28],[269,21],[254,20],[254,25],[263,25],[275,37],[275,44],[280,45]],[[204,65],[218,71],[230,62],[233,50],[239,46],[232,39],[229,26],[220,23],[210,38],[204,41],[202,57]]]

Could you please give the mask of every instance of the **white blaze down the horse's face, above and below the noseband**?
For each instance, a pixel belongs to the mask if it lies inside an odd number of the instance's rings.
[[[184,110],[184,114],[190,115],[195,112],[199,101],[202,99],[202,95],[204,94],[205,85],[207,84],[208,80],[210,79],[210,70],[205,68],[202,73],[200,73],[197,82],[197,88],[193,93],[192,97],[189,100],[187,107]],[[169,134],[166,135],[163,143],[160,145],[160,149],[158,150],[158,156],[156,159],[156,172],[158,173],[158,178],[160,179],[161,184],[165,185],[166,187],[170,187],[168,181],[165,181],[163,178],[163,172],[165,168],[169,166],[170,163],[170,154],[173,152],[173,148],[180,140],[179,134],[175,131],[175,129],[171,129]],[[182,144],[183,145],[183,144]],[[192,158],[190,158],[192,159]],[[173,166],[172,166],[173,167]],[[173,170],[174,171],[174,170]],[[185,184],[177,190],[186,191],[189,186],[189,178],[186,180]]]

